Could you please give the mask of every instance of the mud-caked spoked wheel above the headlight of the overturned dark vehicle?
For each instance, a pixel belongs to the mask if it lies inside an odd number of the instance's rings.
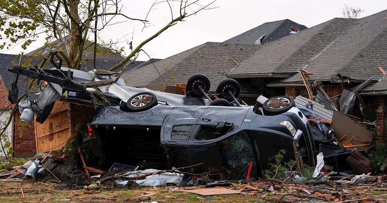
[[[275,116],[285,113],[295,106],[295,102],[292,98],[287,96],[276,96],[265,101],[262,108],[265,116]]]

